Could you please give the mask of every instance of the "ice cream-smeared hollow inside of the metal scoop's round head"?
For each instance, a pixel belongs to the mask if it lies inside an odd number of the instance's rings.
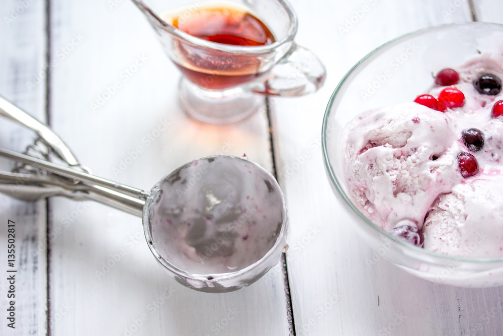
[[[149,223],[165,260],[189,273],[214,275],[260,260],[284,240],[285,216],[271,174],[247,160],[219,156],[196,160],[163,180]]]

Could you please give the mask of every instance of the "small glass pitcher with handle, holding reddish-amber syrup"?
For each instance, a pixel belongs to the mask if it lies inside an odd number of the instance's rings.
[[[323,64],[295,44],[297,16],[283,0],[132,1],[182,72],[182,107],[198,120],[236,121],[263,95],[302,96],[324,82]]]

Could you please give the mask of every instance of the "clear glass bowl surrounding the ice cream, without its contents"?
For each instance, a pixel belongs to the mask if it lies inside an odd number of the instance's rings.
[[[385,43],[353,66],[339,83],[326,107],[322,127],[323,160],[332,190],[351,215],[351,225],[377,252],[374,256],[417,277],[459,287],[502,286],[503,258],[465,258],[431,252],[374,225],[348,196],[341,131],[361,112],[413,101],[432,86],[432,74],[459,66],[485,51],[503,55],[503,25],[450,24]]]

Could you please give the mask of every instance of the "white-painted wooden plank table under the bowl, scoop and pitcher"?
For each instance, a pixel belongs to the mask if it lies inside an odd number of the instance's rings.
[[[503,23],[503,3],[292,5],[300,22],[296,41],[326,66],[324,87],[307,97],[264,100],[245,121],[212,126],[181,111],[180,74],[130,1],[2,1],[0,95],[49,123],[96,175],[147,190],[192,159],[246,153],[277,174],[290,249],[286,268],[277,265],[250,287],[200,293],[157,265],[139,218],[59,197],[26,203],[0,195],[0,334],[503,334],[503,288],[433,285],[385,260],[365,264],[372,251],[330,190],[320,146],[328,98],[361,57],[432,25]],[[112,93],[116,81],[121,86]],[[0,129],[2,147],[21,151],[33,139],[6,120]],[[1,160],[0,167],[10,163]],[[16,225],[15,329],[7,326],[8,220]]]

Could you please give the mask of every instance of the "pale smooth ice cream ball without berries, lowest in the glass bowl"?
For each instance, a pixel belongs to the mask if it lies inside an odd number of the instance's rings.
[[[503,179],[468,179],[440,195],[424,224],[425,248],[465,256],[503,256]]]

